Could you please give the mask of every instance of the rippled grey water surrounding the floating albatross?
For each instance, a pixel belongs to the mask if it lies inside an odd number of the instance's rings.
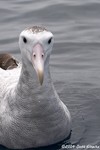
[[[0,52],[20,60],[18,36],[31,25],[55,36],[51,72],[72,115],[71,143],[100,146],[100,0],[0,0]]]

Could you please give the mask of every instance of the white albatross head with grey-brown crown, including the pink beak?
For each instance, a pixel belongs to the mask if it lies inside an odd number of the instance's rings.
[[[33,26],[21,32],[19,46],[22,56],[34,67],[42,85],[44,65],[53,47],[53,34],[45,28]]]

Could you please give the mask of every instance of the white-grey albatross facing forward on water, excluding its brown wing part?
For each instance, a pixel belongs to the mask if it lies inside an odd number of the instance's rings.
[[[19,46],[22,65],[0,69],[0,144],[21,149],[57,143],[69,135],[71,117],[50,75],[53,34],[27,28]]]

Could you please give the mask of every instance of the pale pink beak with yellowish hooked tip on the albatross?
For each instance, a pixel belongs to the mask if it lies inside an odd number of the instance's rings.
[[[39,82],[42,85],[44,78],[44,50],[39,43],[33,47],[32,63],[36,70]]]

